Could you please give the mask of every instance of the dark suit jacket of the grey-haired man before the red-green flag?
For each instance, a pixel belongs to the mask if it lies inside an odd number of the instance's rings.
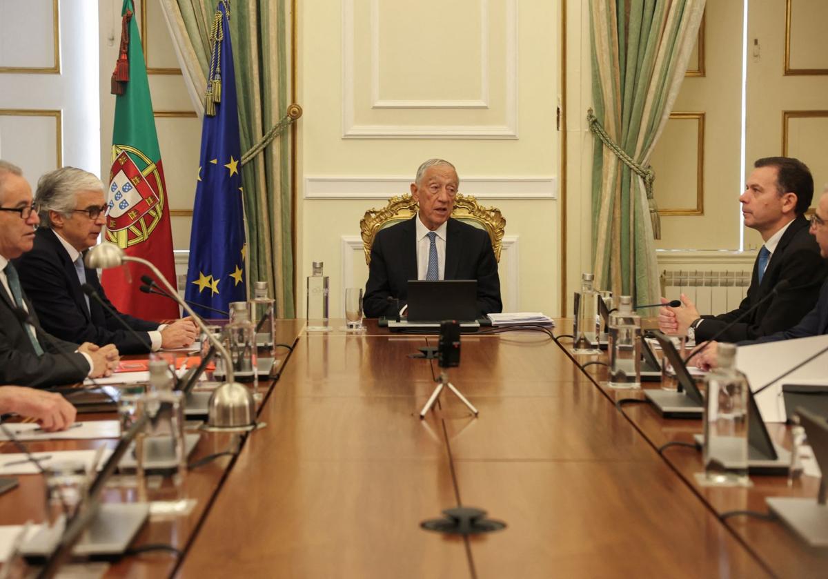
[[[87,310],[75,264],[70,261],[69,253],[51,229],[38,229],[34,248],[17,258],[15,265],[44,330],[78,344],[114,344],[121,354],[150,351],[150,337],[146,332],[156,330],[158,324],[118,312],[118,317],[138,332],[136,337],[94,298],[89,298]],[[86,282],[115,311],[103,292],[98,272],[89,268],[85,268],[85,272]]]

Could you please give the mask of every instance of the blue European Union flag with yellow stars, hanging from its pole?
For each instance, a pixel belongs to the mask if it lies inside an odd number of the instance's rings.
[[[190,302],[228,311],[230,302],[247,299],[244,276],[247,245],[233,49],[224,2],[219,2],[217,13],[221,27],[214,41],[207,79],[209,103],[201,128],[185,295]],[[209,116],[212,112],[214,116]],[[205,317],[216,317],[213,312],[197,307],[195,311]]]

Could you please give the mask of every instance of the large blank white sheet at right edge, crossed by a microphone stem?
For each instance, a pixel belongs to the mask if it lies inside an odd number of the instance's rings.
[[[750,389],[756,392],[777,376],[828,347],[828,335],[814,335],[798,340],[782,340],[768,344],[739,346],[736,367],[744,372]],[[785,422],[785,401],[782,384],[828,384],[828,352],[777,380],[756,397],[759,413],[765,422]]]

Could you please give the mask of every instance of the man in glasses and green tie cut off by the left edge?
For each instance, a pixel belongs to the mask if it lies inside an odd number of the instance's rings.
[[[112,374],[118,367],[115,346],[66,342],[46,334],[37,321],[10,260],[31,249],[38,223],[22,171],[0,161],[0,384],[41,387]],[[26,314],[29,321],[22,320]]]

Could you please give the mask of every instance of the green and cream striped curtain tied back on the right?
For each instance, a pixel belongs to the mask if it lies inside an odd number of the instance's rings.
[[[658,301],[653,239],[657,207],[646,170],[696,41],[705,0],[590,0],[593,108],[599,129],[592,166],[595,286],[634,302]],[[614,152],[612,147],[619,149]]]

